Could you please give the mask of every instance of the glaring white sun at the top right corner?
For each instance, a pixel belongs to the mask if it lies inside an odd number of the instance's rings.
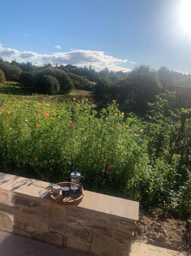
[[[191,33],[191,0],[182,1],[181,23],[185,32]]]

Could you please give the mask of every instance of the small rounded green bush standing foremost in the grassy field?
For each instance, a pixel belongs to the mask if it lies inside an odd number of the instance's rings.
[[[46,91],[48,94],[54,95],[60,91],[60,84],[53,76],[44,75],[42,84],[44,85],[44,91]]]

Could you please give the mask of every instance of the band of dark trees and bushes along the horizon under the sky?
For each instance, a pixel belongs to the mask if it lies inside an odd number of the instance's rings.
[[[130,72],[109,72],[104,68],[99,72],[89,67],[50,63],[35,66],[31,62],[11,63],[0,58],[0,81],[19,81],[24,87],[37,93],[64,94],[77,89],[92,90],[98,108],[107,107],[115,99],[119,108],[127,112],[143,115],[147,112],[147,102],[154,102],[155,96],[172,85],[191,87],[191,75],[160,67],[154,70],[150,66],[135,66]],[[91,82],[90,82],[91,81]],[[182,106],[184,107],[184,102]]]

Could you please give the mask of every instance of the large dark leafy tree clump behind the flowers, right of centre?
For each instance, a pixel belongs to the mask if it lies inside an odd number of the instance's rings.
[[[108,70],[104,71],[105,74]],[[115,98],[123,111],[129,109],[145,114],[147,102],[154,102],[155,95],[162,89],[157,72],[149,66],[135,67],[126,78],[112,80],[105,78],[97,82],[94,90],[95,102],[101,107]]]

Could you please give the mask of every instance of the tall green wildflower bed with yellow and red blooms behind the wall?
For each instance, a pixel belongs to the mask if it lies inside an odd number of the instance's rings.
[[[133,113],[125,118],[115,100],[98,114],[88,99],[76,102],[73,98],[62,105],[59,115],[51,114],[48,104],[4,100],[0,162],[3,166],[31,166],[51,182],[66,180],[70,172],[78,170],[89,189],[137,200],[144,206],[158,205],[189,219],[187,158],[191,146],[187,144],[188,150],[182,154],[181,144],[190,140],[181,136],[177,144],[181,130],[178,110],[163,115],[174,96],[168,91],[157,96],[150,104],[150,121]],[[187,127],[189,114],[181,132],[189,138]]]

